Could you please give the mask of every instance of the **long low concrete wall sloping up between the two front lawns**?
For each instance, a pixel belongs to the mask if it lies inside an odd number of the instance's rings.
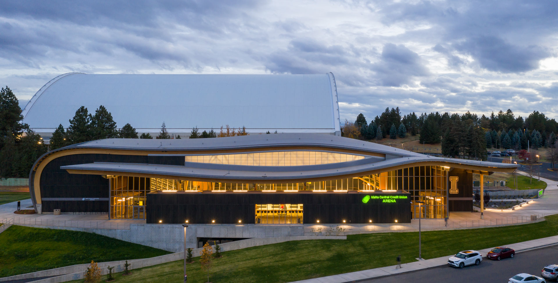
[[[288,241],[311,240],[311,239],[347,239],[347,237],[345,236],[294,236],[294,237],[252,238],[252,239],[244,239],[235,242],[223,243],[220,244],[219,247],[221,247],[222,252],[225,252],[225,251],[239,250],[248,247],[263,246],[265,244],[274,244],[274,243],[281,243],[281,242],[288,242]],[[201,250],[202,250],[201,248],[194,249],[192,252],[194,257],[200,256]],[[136,269],[136,268],[153,266],[153,265],[158,265],[160,263],[172,262],[172,261],[183,260],[183,259],[184,259],[184,252],[175,252],[164,256],[142,258],[139,260],[128,260],[128,263],[130,264],[129,269]],[[101,268],[102,274],[105,275],[108,272],[107,266],[114,266],[115,267],[114,272],[122,272],[124,271],[125,263],[126,261],[99,262],[98,266]],[[58,282],[66,282],[71,280],[79,280],[84,278],[88,266],[89,264],[72,265],[72,266],[54,268],[50,270],[32,272],[28,274],[3,277],[0,278],[0,282],[21,280],[21,279],[31,279],[31,278],[45,277],[45,276],[55,276],[55,275],[60,275],[60,276],[50,277],[47,279],[41,279],[32,282],[58,283]]]

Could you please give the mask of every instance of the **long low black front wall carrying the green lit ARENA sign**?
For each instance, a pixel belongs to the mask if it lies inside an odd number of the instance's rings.
[[[378,196],[363,203],[366,195]],[[397,195],[395,202],[380,196]],[[303,204],[306,224],[410,223],[408,193],[167,193],[147,194],[147,223],[254,224],[256,204]]]

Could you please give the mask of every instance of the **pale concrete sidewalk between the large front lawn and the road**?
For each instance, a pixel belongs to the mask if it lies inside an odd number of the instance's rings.
[[[516,250],[516,252],[525,252],[528,250],[533,250],[535,248],[553,246],[555,244],[558,244],[558,236],[535,239],[535,240],[521,242],[521,243],[507,244],[504,246],[511,247],[514,250]],[[492,250],[492,248],[486,248],[484,250],[480,250],[479,252],[483,256],[486,256],[487,252],[489,252],[490,250]],[[348,283],[348,282],[365,280],[365,279],[373,279],[378,277],[384,277],[384,276],[390,276],[395,274],[401,274],[405,272],[421,270],[430,267],[444,266],[448,264],[448,258],[451,256],[453,255],[431,258],[430,260],[424,260],[424,261],[403,263],[401,265],[401,268],[398,269],[395,268],[396,265],[392,265],[392,266],[373,268],[373,269],[363,270],[363,271],[349,272],[345,274],[318,277],[314,279],[306,279],[306,280],[295,281],[290,283]],[[486,259],[483,259],[483,261],[484,260]]]

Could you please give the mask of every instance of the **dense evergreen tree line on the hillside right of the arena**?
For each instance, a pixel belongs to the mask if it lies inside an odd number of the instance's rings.
[[[420,135],[421,143],[440,143],[442,154],[451,157],[485,159],[486,148],[526,149],[556,145],[558,123],[545,114],[533,111],[526,119],[513,111],[499,111],[489,117],[466,112],[445,112],[401,115],[398,107],[386,108],[367,123],[362,113],[355,122],[345,121],[343,135],[363,140]]]

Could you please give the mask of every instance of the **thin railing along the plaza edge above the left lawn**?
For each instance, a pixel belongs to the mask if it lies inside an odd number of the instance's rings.
[[[28,224],[37,226],[56,226],[56,227],[74,227],[74,228],[94,228],[94,229],[130,229],[129,222],[122,220],[58,220],[58,219],[41,219],[29,217],[15,217],[12,219],[13,224]]]

